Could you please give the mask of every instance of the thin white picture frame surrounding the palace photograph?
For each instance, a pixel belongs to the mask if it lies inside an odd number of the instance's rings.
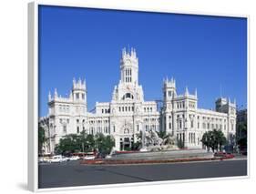
[[[72,7],[85,7],[85,8],[100,8],[100,9],[114,9],[124,11],[148,11],[157,13],[175,13],[175,14],[188,14],[188,15],[216,15],[216,16],[236,16],[245,17],[248,21],[248,39],[250,33],[250,16],[249,15],[230,15],[230,14],[212,14],[212,13],[195,13],[187,11],[171,11],[169,9],[145,9],[143,7],[126,7],[119,5],[88,5],[87,3],[76,4],[75,3],[53,3],[47,1],[36,1],[28,4],[28,189],[31,191],[46,191],[46,190],[62,190],[62,189],[92,189],[92,188],[106,188],[106,187],[123,187],[123,186],[138,186],[148,185],[148,183],[126,183],[126,184],[113,184],[113,185],[96,185],[96,186],[79,186],[79,187],[68,187],[68,188],[55,188],[55,189],[39,189],[38,188],[38,158],[37,158],[37,128],[38,128],[38,6],[39,5],[56,5],[56,6],[72,6]],[[249,41],[248,41],[248,72],[249,72]],[[248,74],[249,80],[249,74]],[[249,87],[249,81],[248,81]],[[248,88],[249,90],[249,88]],[[248,97],[249,98],[249,97]],[[248,109],[250,101],[248,100]],[[249,110],[250,112],[250,110]],[[249,117],[248,117],[248,123]],[[249,127],[250,128],[250,127]],[[250,130],[249,130],[250,137]],[[250,145],[250,139],[248,139],[248,145]],[[250,148],[249,152],[250,152]],[[247,176],[235,177],[235,178],[212,178],[215,179],[247,179],[250,177],[250,155],[248,156],[247,165]],[[183,180],[169,180],[159,181],[153,184],[166,184],[176,182],[190,182],[190,181],[203,181],[205,179],[183,179]],[[210,180],[210,179],[207,179]],[[152,184],[152,182],[150,183]]]

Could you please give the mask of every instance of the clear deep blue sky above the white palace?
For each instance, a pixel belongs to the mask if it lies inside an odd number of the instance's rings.
[[[198,90],[199,107],[216,97],[247,105],[247,20],[238,17],[39,7],[39,116],[47,95],[69,94],[73,77],[87,79],[88,109],[111,100],[123,47],[135,47],[146,100],[162,98],[163,77],[178,93]]]

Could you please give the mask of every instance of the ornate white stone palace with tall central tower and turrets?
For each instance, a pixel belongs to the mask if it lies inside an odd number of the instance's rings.
[[[92,84],[92,83],[91,83]],[[145,101],[143,88],[138,84],[138,57],[131,49],[122,51],[120,79],[114,87],[110,102],[97,102],[95,112],[87,111],[87,85],[73,80],[69,97],[60,97],[56,90],[48,96],[48,115],[39,124],[46,129],[45,152],[54,152],[59,139],[67,134],[103,133],[115,138],[116,149],[131,147],[140,130],[166,131],[177,137],[185,148],[202,148],[200,139],[205,131],[220,129],[229,140],[235,134],[236,105],[220,97],[216,111],[198,108],[197,91],[184,95],[176,92],[176,82],[163,82],[161,107],[158,101]]]

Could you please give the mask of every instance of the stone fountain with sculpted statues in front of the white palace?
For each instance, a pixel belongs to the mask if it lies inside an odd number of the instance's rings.
[[[179,149],[177,139],[174,136],[167,135],[165,138],[159,138],[154,130],[142,131],[141,148],[138,152],[118,153],[112,155],[110,160],[124,161],[145,161],[158,162],[164,160],[179,159],[209,159],[213,154],[205,149]]]

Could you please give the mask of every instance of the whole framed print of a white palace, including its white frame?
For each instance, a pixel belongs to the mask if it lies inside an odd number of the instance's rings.
[[[29,189],[247,178],[248,20],[29,4]]]

